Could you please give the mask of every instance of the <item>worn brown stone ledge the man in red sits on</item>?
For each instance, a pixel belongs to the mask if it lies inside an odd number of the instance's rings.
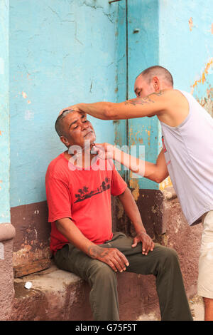
[[[141,274],[117,274],[121,320],[136,320],[149,313],[160,319],[155,277]],[[25,283],[31,282],[31,289]],[[89,305],[90,287],[87,282],[70,272],[50,269],[14,280],[15,298],[12,321],[92,320]],[[104,292],[103,292],[104,299]]]

